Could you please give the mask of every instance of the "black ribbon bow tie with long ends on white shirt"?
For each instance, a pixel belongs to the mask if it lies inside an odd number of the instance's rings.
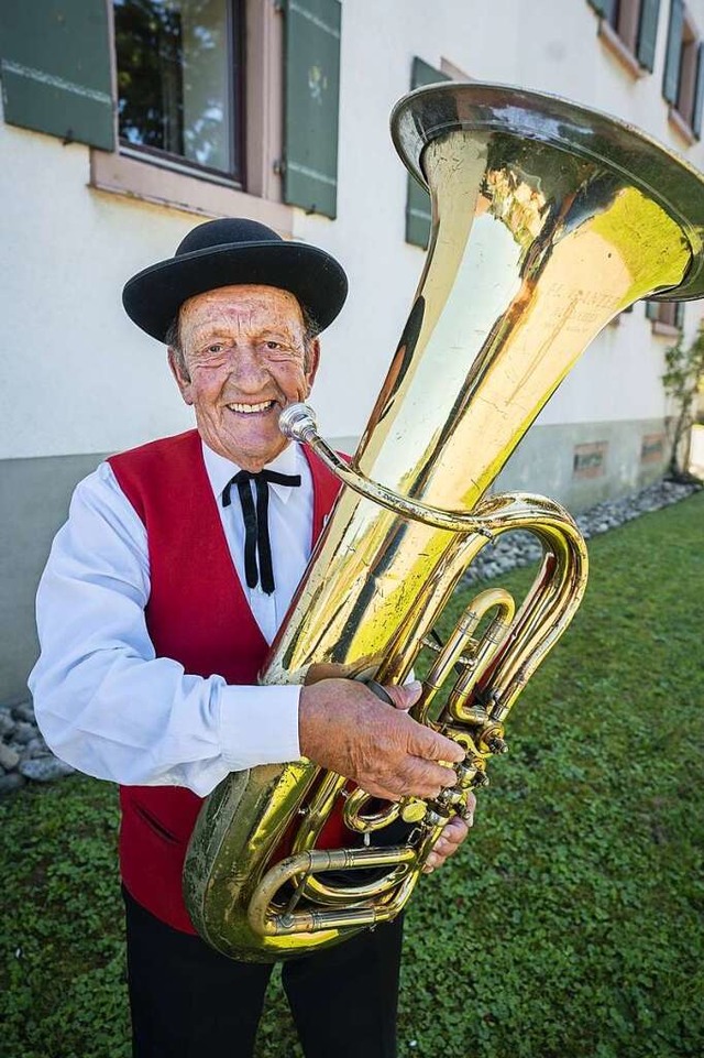
[[[256,487],[256,508],[252,499],[250,481]],[[274,590],[274,569],[272,566],[272,544],[268,538],[268,482],[273,484],[299,486],[299,473],[278,473],[276,470],[260,470],[251,473],[240,470],[228,481],[222,490],[222,505],[230,506],[230,490],[237,484],[244,519],[244,574],[248,587],[256,588],[260,575],[262,591],[267,596]],[[258,555],[258,571],[257,571]]]

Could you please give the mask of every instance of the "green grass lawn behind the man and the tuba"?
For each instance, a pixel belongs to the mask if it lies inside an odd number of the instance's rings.
[[[471,839],[411,902],[400,1058],[704,1055],[703,548],[704,493],[590,543]],[[78,776],[0,804],[2,1054],[129,1055],[116,829]],[[294,1039],[275,978],[258,1058]]]

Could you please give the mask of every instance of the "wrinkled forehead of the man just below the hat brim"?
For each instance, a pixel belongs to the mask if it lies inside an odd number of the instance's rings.
[[[179,326],[190,332],[209,327],[261,328],[285,327],[300,334],[304,317],[298,299],[277,286],[220,286],[189,297],[180,307]]]

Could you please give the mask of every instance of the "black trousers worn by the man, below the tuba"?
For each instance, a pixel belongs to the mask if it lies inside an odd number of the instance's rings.
[[[273,968],[234,962],[123,895],[134,1058],[250,1058]],[[306,1058],[395,1058],[402,918],[284,963]]]

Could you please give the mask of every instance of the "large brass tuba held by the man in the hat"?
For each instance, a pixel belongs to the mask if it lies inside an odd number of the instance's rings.
[[[184,892],[201,936],[245,961],[338,944],[405,906],[446,822],[486,785],[506,718],[586,583],[571,516],[492,483],[608,320],[639,298],[704,294],[704,179],[625,123],[552,96],[447,83],[403,98],[392,134],[431,194],[429,252],[351,462],[308,407],[282,416],[344,488],[260,678],[394,684],[430,648],[411,715],[466,756],[429,801],[374,801],[305,759],[228,776],[201,809]],[[542,545],[527,597],[516,610],[507,591],[482,591],[438,645],[469,564],[513,530]],[[321,848],[340,812],[345,848]]]

